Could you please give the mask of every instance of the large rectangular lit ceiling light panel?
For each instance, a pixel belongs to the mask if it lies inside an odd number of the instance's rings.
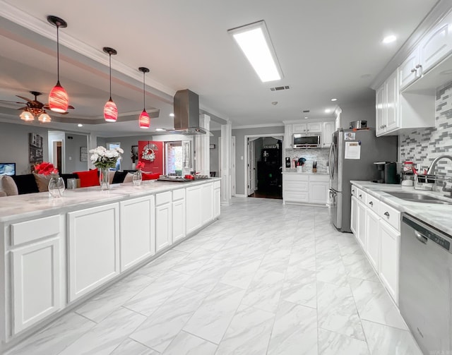
[[[265,21],[228,30],[263,83],[283,78]]]

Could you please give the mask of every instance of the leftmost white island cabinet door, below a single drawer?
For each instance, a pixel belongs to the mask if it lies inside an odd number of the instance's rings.
[[[63,267],[59,248],[57,236],[11,251],[13,334],[59,311]]]

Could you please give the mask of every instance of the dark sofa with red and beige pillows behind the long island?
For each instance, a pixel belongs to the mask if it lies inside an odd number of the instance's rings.
[[[68,179],[78,179],[78,187],[89,187],[99,185],[99,172],[92,169],[83,172],[73,172],[72,174],[60,174],[67,187]],[[131,172],[110,171],[110,183],[132,182],[133,174]],[[160,174],[145,174],[143,180],[158,179]],[[23,174],[23,175],[0,175],[0,197],[11,195],[23,195],[25,193],[38,193],[48,191],[49,175],[42,174]]]

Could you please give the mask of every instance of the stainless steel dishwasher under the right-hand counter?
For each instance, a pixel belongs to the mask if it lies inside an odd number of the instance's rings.
[[[452,236],[407,214],[400,231],[399,307],[424,354],[452,354]]]

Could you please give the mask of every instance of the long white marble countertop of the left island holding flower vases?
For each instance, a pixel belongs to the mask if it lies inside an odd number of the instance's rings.
[[[138,198],[220,180],[220,178],[189,182],[147,180],[143,181],[141,186],[133,186],[133,183],[114,183],[106,191],[101,191],[100,186],[66,189],[61,198],[51,198],[47,192],[6,196],[0,198],[0,222],[69,212],[70,210],[80,209],[80,207],[89,208],[96,205],[105,205],[128,198]]]

